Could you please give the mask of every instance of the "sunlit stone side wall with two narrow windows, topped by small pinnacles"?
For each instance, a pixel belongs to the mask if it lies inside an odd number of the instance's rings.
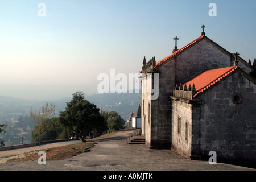
[[[172,99],[172,150],[189,159],[200,156],[200,100],[194,87],[174,89]],[[180,124],[178,123],[180,120]],[[180,131],[179,130],[180,127]]]

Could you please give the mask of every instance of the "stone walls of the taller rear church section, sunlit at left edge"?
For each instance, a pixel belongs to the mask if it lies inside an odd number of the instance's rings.
[[[252,65],[238,57],[240,67],[248,74],[254,71]],[[154,85],[154,75],[159,76],[159,96],[152,99],[151,93],[141,95],[142,103],[142,135],[146,145],[150,148],[171,148],[172,127],[174,118],[172,111],[174,104],[170,96],[177,83],[181,83],[192,76],[208,69],[229,67],[233,65],[234,56],[203,35],[187,46],[155,62],[155,57],[150,61],[143,60],[141,73],[142,88]],[[187,105],[189,107],[189,105]],[[178,108],[176,108],[178,109]],[[191,123],[188,123],[191,125]],[[191,129],[191,127],[188,127]],[[196,146],[195,146],[196,147]]]

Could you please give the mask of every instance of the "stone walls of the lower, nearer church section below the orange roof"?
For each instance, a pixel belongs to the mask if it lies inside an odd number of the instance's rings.
[[[256,80],[241,69],[195,97],[174,89],[172,149],[187,158],[256,166]],[[180,122],[180,124],[179,124]],[[179,131],[180,129],[180,131]]]

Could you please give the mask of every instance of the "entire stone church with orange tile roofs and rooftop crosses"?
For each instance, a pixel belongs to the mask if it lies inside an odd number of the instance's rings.
[[[171,55],[148,62],[141,94],[141,132],[150,148],[172,148],[187,158],[256,162],[256,60],[230,53],[204,32]]]

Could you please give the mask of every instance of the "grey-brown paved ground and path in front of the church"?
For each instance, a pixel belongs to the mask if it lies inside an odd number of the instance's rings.
[[[253,168],[207,161],[189,160],[171,150],[149,149],[143,144],[128,144],[132,131],[118,131],[110,138],[97,140],[90,152],[46,164],[7,162],[0,164],[5,171],[256,171]],[[45,148],[47,145],[45,145]],[[29,150],[27,148],[26,150]],[[32,149],[31,149],[32,150]],[[11,154],[13,151],[9,151]],[[18,151],[16,151],[18,153]],[[19,152],[20,153],[20,152]],[[3,153],[0,152],[0,158]]]

